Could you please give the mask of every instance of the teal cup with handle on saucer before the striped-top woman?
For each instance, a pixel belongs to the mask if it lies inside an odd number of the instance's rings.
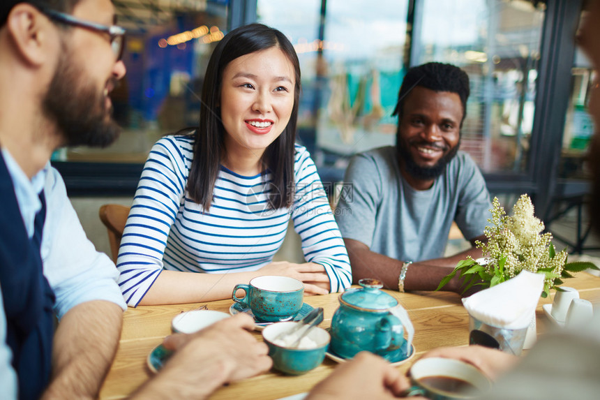
[[[237,297],[237,290],[246,296]],[[304,284],[289,276],[257,276],[248,285],[240,283],[232,293],[234,302],[252,310],[256,320],[276,323],[295,316],[304,304]]]

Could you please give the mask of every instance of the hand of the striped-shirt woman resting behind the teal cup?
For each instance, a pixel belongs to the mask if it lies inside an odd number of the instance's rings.
[[[294,264],[293,262],[277,261],[265,265],[259,271],[265,275],[290,276],[290,278],[302,281],[305,295],[327,295],[329,293],[329,276],[325,272],[325,267],[316,262]]]

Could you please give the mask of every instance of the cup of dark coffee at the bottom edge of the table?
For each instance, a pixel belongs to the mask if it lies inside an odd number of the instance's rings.
[[[403,392],[403,397],[471,399],[491,386],[490,380],[479,369],[451,358],[421,358],[412,364],[409,375],[412,387]]]

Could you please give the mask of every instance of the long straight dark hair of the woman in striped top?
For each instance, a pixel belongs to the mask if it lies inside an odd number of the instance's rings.
[[[294,107],[287,126],[267,147],[261,163],[271,172],[269,207],[290,207],[294,199],[294,142],[300,96],[300,63],[284,34],[263,24],[250,24],[234,29],[215,47],[202,85],[200,124],[195,133],[194,158],[188,177],[188,194],[208,211],[213,199],[215,182],[225,150],[225,128],[220,120],[220,91],[223,70],[227,64],[245,54],[278,47],[294,66],[296,85]]]

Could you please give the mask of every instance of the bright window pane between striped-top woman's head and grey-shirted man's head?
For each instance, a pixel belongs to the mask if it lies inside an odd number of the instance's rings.
[[[398,0],[258,0],[259,22],[283,31],[296,47],[299,134],[317,146],[317,164],[327,163],[327,154],[395,144],[391,113],[403,76],[407,8]]]

